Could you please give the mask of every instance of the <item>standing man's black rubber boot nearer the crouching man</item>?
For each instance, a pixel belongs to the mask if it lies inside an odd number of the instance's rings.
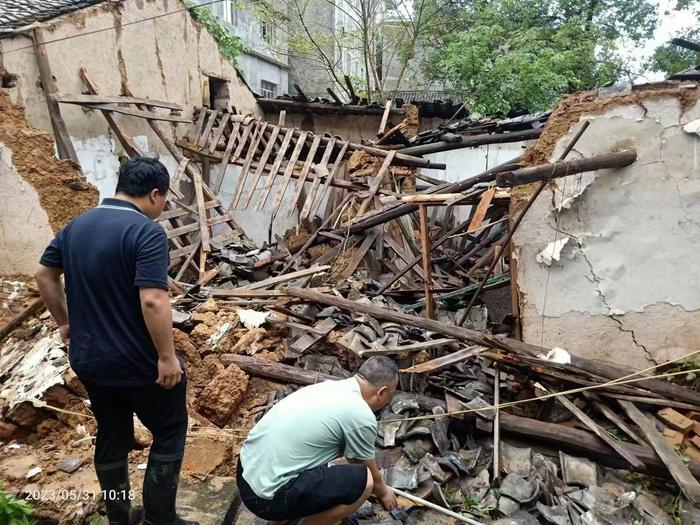
[[[143,478],[144,525],[199,525],[187,521],[175,512],[177,484],[180,480],[182,457],[178,459],[148,458]]]

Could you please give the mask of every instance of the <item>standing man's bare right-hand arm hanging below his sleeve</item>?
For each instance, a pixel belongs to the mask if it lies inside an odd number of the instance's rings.
[[[175,356],[173,312],[168,292],[161,288],[139,288],[146,328],[158,352],[158,383],[172,388],[182,379],[182,367]]]

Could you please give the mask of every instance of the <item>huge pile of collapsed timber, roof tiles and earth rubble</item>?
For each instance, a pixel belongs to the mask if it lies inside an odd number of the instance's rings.
[[[539,130],[545,119],[484,131]],[[387,483],[408,492],[391,516],[364,506],[361,523],[700,522],[697,351],[640,371],[514,337],[507,247],[532,202],[552,178],[627,166],[634,151],[567,161],[583,125],[556,163],[526,166],[518,157],[443,183],[419,173],[440,166],[408,148],[314,136],[281,121],[207,109],[187,138],[166,143],[180,163],[161,222],[171,242],[176,349],[189,378],[185,485],[229,487],[247,431],[276,401],[388,355],[400,388],[379,415],[377,458]],[[431,146],[467,128],[420,140]],[[223,169],[210,170],[216,163]],[[228,164],[241,170],[224,206]],[[532,183],[511,202],[509,188]],[[274,195],[274,221],[291,188],[298,227],[256,246],[231,210],[254,196],[262,208]],[[7,488],[24,496],[86,490],[95,483],[95,429],[85,392],[31,285],[5,283],[3,293]],[[134,484],[149,444],[137,428]],[[96,511],[94,499],[32,499],[61,523]],[[224,522],[235,510],[228,501]]]

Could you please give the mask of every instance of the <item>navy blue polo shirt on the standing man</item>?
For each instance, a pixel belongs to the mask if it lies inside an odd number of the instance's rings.
[[[155,382],[158,354],[139,288],[167,290],[168,261],[163,228],[120,199],[104,199],[51,241],[41,264],[63,268],[70,364],[81,380],[104,386]]]

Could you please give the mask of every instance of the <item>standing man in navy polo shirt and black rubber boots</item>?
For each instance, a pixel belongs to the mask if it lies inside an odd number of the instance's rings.
[[[61,337],[70,339],[70,364],[97,420],[95,470],[110,525],[142,518],[145,525],[196,525],[175,512],[186,379],[173,345],[167,237],[154,222],[169,184],[167,169],[155,159],[122,164],[115,198],[58,232],[36,273]],[[131,507],[129,488],[134,413],[153,434],[143,512]]]

